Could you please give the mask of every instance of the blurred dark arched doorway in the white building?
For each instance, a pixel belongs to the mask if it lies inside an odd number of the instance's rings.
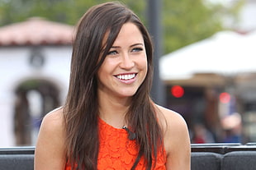
[[[59,107],[59,89],[49,80],[31,79],[21,82],[15,94],[16,145],[35,145],[42,117]]]

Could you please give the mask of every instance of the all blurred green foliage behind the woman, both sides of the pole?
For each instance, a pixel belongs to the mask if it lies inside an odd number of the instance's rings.
[[[110,0],[109,0],[110,1]],[[0,0],[0,26],[26,21],[33,16],[75,25],[89,7],[108,0]],[[206,4],[206,0],[162,0],[164,52],[206,39],[222,30],[221,16],[235,15],[241,7],[237,1],[228,9]],[[147,0],[121,0],[145,22]],[[145,22],[146,23],[146,22]]]

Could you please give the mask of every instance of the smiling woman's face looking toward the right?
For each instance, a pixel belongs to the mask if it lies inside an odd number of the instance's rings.
[[[130,97],[147,74],[147,56],[142,34],[133,23],[122,25],[120,33],[97,72],[98,94]]]

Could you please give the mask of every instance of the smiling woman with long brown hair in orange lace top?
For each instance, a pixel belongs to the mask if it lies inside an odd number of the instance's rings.
[[[64,107],[40,127],[35,169],[190,169],[186,123],[149,97],[152,57],[132,11],[91,7],[78,24]]]

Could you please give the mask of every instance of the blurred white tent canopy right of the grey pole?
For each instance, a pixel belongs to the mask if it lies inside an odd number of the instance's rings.
[[[187,79],[197,73],[256,72],[256,31],[219,32],[161,57],[159,67],[162,80]]]

